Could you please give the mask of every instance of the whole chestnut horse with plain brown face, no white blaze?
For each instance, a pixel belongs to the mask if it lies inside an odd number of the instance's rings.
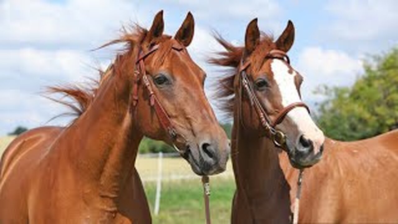
[[[188,13],[174,37],[163,13],[113,43],[126,50],[97,88],[53,87],[80,104],[66,128],[20,135],[2,156],[0,223],[150,223],[134,161],[143,136],[174,145],[199,175],[225,170],[229,140],[203,90],[205,73],[189,57]],[[167,130],[166,130],[167,129]]]

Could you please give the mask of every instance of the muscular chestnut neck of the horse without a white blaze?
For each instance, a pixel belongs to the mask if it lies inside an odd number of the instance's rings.
[[[111,74],[60,140],[87,187],[112,199],[132,175],[142,139],[130,112],[131,81],[131,74]]]

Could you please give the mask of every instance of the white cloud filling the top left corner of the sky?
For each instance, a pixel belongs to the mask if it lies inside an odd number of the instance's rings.
[[[96,47],[116,34],[122,22],[146,16],[123,0],[70,0],[64,4],[45,0],[2,1],[0,41],[11,43],[82,44]],[[5,31],[4,31],[5,30]],[[100,40],[100,42],[99,42]]]

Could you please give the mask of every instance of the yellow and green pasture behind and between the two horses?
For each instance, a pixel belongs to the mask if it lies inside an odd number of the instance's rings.
[[[0,138],[0,153],[14,139],[12,136]],[[154,224],[202,224],[205,222],[203,190],[201,180],[179,158],[163,158],[162,191],[158,216],[152,214]],[[158,178],[158,158],[138,156],[136,167],[143,181],[150,210],[153,212],[156,179]],[[231,162],[227,170],[211,177],[211,218],[214,224],[230,222],[230,209],[235,191]]]

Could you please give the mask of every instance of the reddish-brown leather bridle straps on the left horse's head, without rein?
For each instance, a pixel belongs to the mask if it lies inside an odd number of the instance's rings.
[[[144,53],[142,49],[139,49],[138,55],[137,55],[137,60],[135,61],[136,63],[136,69],[134,71],[134,82],[133,82],[133,92],[132,92],[132,108],[135,109],[135,107],[138,104],[138,86],[139,86],[139,81],[142,79],[142,82],[144,83],[144,86],[146,90],[149,93],[149,102],[150,106],[155,110],[156,116],[158,117],[158,120],[160,124],[162,125],[162,128],[166,130],[168,135],[170,136],[170,139],[172,140],[173,148],[178,151],[183,157],[185,157],[187,151],[186,150],[181,150],[179,149],[176,145],[175,142],[177,140],[177,137],[180,136],[184,142],[186,143],[187,140],[182,134],[179,134],[174,126],[172,125],[172,122],[170,120],[170,116],[167,114],[166,110],[160,104],[160,101],[158,97],[155,95],[153,88],[150,84],[148,75],[146,75],[146,70],[145,70],[145,63],[144,59],[154,53],[156,50],[159,49],[159,45],[153,46],[149,51]],[[177,41],[173,43],[172,49],[176,51],[182,51],[185,50],[185,48],[178,43]]]

